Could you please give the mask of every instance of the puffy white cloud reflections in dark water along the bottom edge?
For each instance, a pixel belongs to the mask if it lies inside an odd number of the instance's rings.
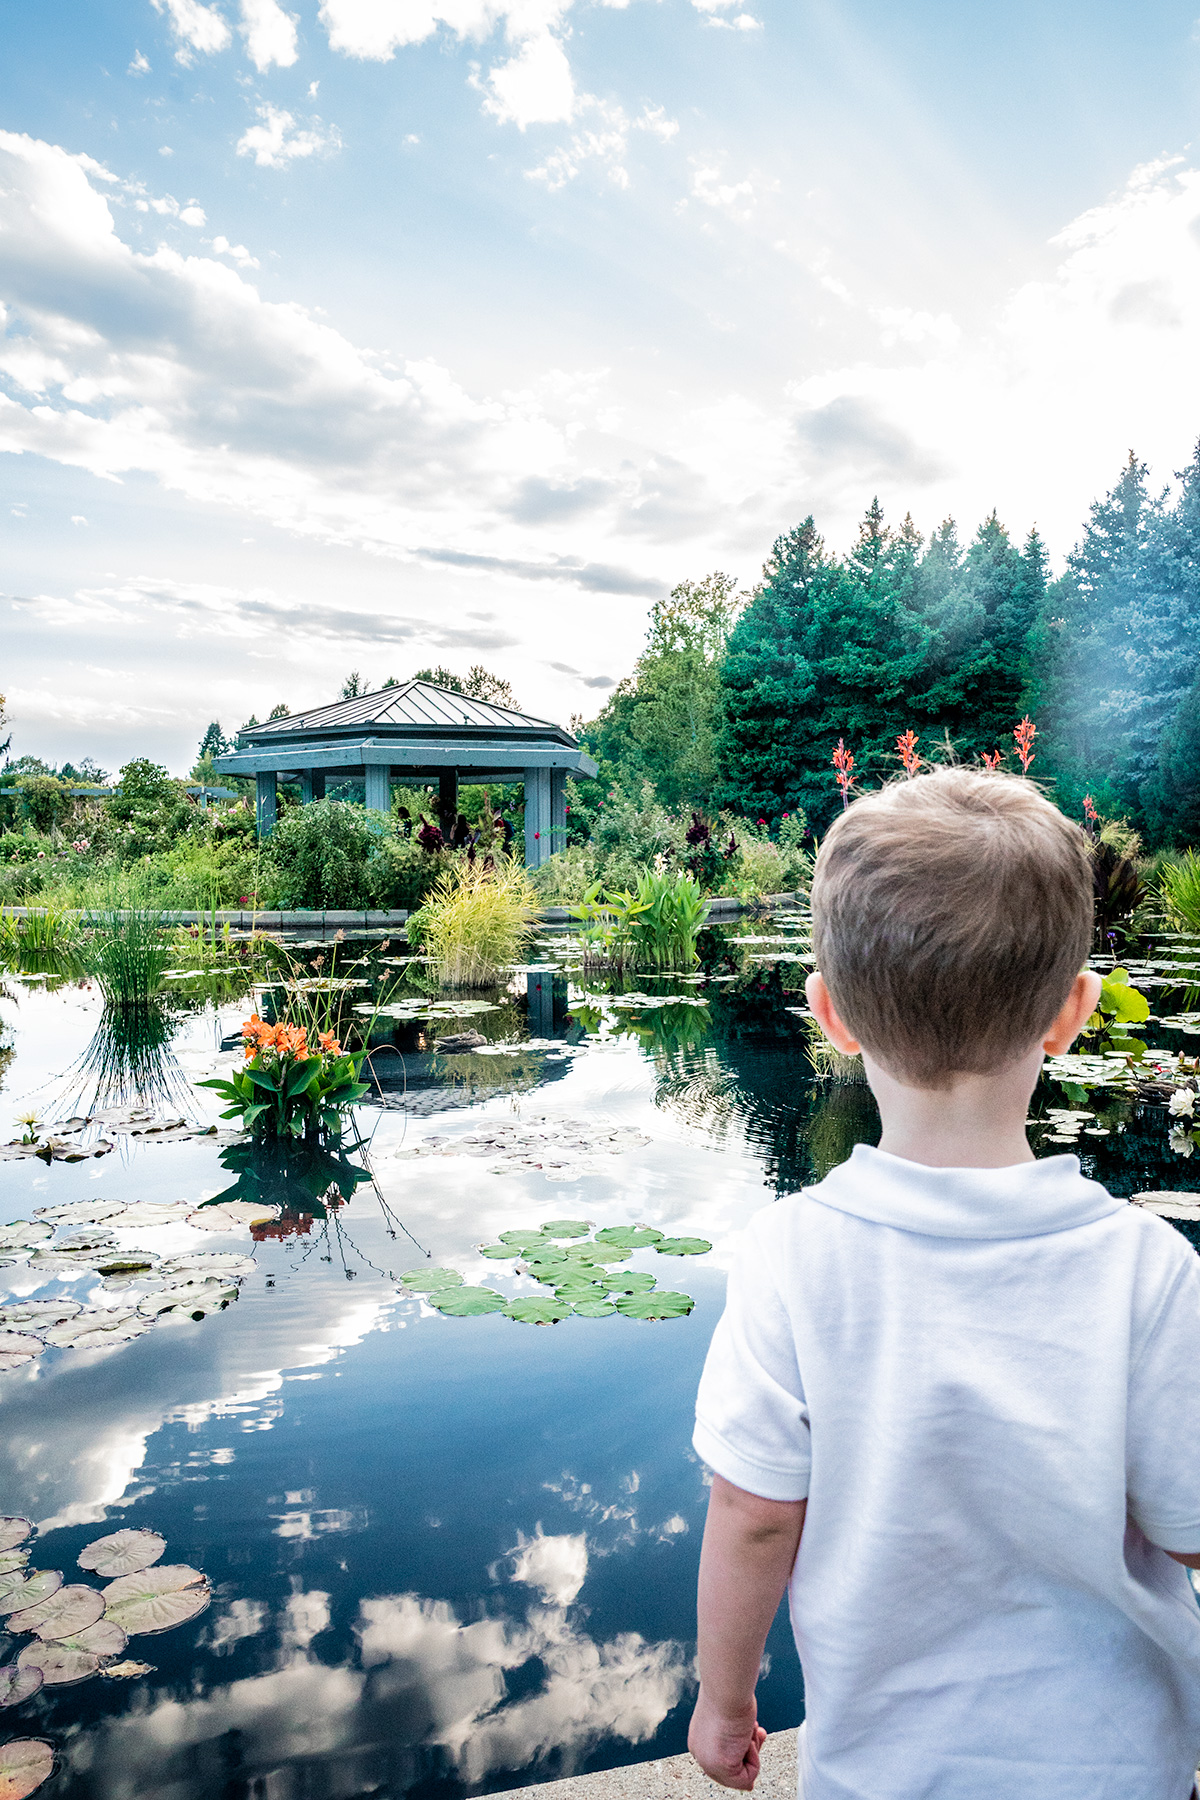
[[[524,1548],[538,1541],[552,1543]],[[362,1669],[313,1656],[327,1625],[329,1597],[295,1591],[277,1618],[275,1669],[135,1705],[83,1730],[65,1760],[94,1800],[207,1800],[230,1784],[272,1800],[354,1800],[428,1775],[430,1751],[468,1782],[549,1753],[570,1771],[604,1737],[651,1739],[693,1681],[684,1645],[639,1633],[596,1643],[563,1607],[462,1624],[444,1600],[363,1600]],[[234,1602],[212,1643],[230,1647],[263,1627],[254,1602]],[[531,1658],[543,1669],[540,1690],[506,1705],[506,1672]]]

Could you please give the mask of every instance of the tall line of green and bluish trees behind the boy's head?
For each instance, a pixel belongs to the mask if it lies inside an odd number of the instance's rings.
[[[923,538],[873,500],[842,556],[810,517],[752,592],[712,574],[657,603],[581,736],[599,792],[649,779],[666,805],[770,824],[801,806],[824,828],[838,740],[867,783],[907,731],[925,760],[1020,767],[1025,715],[1063,810],[1090,796],[1155,844],[1200,839],[1200,450],[1175,497],[1130,454],[1060,576],[1036,529],[1015,544],[995,513],[963,545],[952,518]]]

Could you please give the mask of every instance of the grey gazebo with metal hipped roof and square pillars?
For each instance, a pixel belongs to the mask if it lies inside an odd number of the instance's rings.
[[[225,776],[255,776],[259,837],[275,824],[279,781],[299,781],[300,799],[322,799],[326,781],[360,778],[367,806],[387,812],[390,783],[437,781],[441,828],[459,812],[459,781],[525,783],[525,864],[538,868],[567,842],[567,776],[596,763],[569,731],[491,700],[401,682],[308,713],[245,725],[237,749],[218,756]]]

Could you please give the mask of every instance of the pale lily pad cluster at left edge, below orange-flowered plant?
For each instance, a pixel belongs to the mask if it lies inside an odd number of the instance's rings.
[[[243,1213],[239,1202],[227,1213]],[[99,1274],[110,1292],[128,1294],[113,1305],[83,1305],[67,1294],[45,1300],[9,1300],[0,1303],[0,1373],[32,1363],[43,1350],[99,1350],[130,1343],[164,1318],[203,1319],[223,1312],[237,1298],[239,1285],[255,1267],[252,1256],[237,1251],[180,1251],[160,1256],[142,1247],[124,1247],[117,1229],[151,1229],[171,1224],[200,1224],[210,1229],[212,1210],[196,1210],[187,1201],[68,1201],[41,1206],[32,1219],[0,1226],[0,1265],[27,1262],[47,1280],[68,1273]],[[261,1206],[248,1208],[255,1217]],[[219,1229],[234,1229],[239,1219],[219,1220]],[[4,1789],[0,1787],[0,1796]]]

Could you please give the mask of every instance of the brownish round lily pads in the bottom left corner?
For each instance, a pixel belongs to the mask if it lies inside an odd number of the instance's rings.
[[[106,1582],[65,1582],[61,1570],[31,1570],[32,1523],[0,1517],[0,1616],[13,1636],[29,1636],[14,1661],[0,1665],[0,1706],[20,1706],[40,1688],[74,1687],[92,1676],[131,1681],[153,1663],[126,1656],[130,1638],[173,1631],[209,1606],[200,1570],[164,1564],[166,1537],[124,1530],[97,1537],[79,1568]],[[40,1737],[0,1744],[0,1796],[25,1800],[54,1773],[54,1748]]]

